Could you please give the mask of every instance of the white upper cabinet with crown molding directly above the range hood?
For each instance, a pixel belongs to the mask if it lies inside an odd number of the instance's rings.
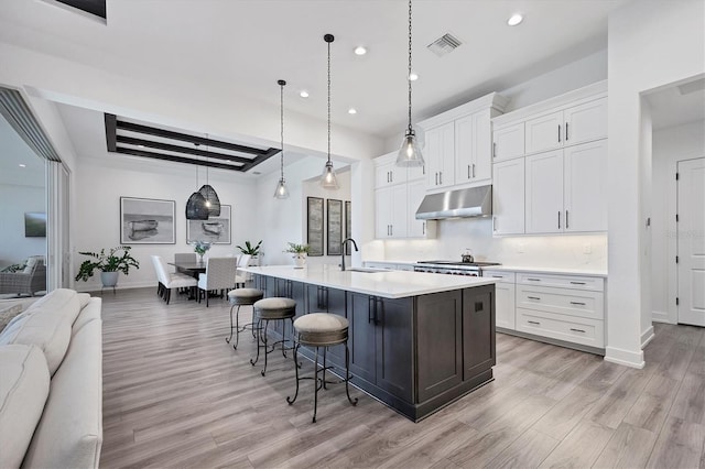
[[[491,182],[491,119],[506,103],[492,92],[420,123],[425,130],[429,190]]]

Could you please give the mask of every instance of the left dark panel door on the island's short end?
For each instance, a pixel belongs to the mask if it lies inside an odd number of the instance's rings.
[[[463,381],[462,292],[419,296],[416,327],[417,402],[424,402]]]

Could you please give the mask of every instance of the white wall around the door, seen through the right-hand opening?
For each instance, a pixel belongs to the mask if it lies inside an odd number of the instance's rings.
[[[653,132],[651,303],[653,320],[675,324],[676,162],[705,156],[705,121]]]

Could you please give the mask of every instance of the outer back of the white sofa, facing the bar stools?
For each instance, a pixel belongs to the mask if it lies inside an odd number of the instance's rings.
[[[54,378],[25,468],[97,468],[102,446],[100,319],[76,332]]]

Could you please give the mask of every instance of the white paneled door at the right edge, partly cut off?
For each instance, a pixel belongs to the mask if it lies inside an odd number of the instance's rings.
[[[705,326],[705,157],[677,171],[679,323]]]

